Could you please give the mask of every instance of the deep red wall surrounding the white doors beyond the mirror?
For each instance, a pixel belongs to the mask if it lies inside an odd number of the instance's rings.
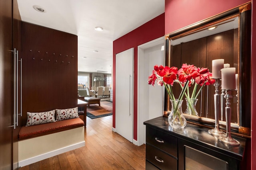
[[[134,140],[137,141],[138,45],[164,36],[164,14],[148,21],[113,42],[113,127],[116,127],[116,54],[134,47]]]

